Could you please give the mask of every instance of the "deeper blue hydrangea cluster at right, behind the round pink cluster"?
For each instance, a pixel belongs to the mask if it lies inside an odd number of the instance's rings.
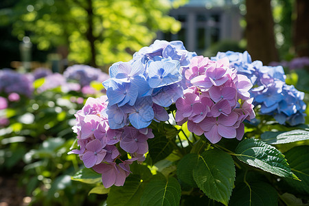
[[[279,124],[288,122],[294,126],[304,123],[304,93],[285,83],[286,76],[282,66],[263,66],[258,60],[252,62],[248,52],[218,52],[211,59],[225,56],[229,58],[230,66],[247,76],[255,86],[249,92],[254,98],[253,104],[261,106],[262,114],[274,116]]]

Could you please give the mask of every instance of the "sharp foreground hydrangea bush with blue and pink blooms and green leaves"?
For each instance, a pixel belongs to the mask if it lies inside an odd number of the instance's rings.
[[[106,95],[76,113],[70,152],[84,164],[72,179],[98,183],[90,193],[108,193],[108,205],[277,205],[309,194],[308,163],[297,163],[308,146],[286,157],[277,146],[309,139],[308,126],[292,127],[306,104],[282,67],[157,40],[109,75]]]

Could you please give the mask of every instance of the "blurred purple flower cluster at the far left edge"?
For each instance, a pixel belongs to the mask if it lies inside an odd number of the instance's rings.
[[[18,93],[30,97],[33,90],[29,76],[11,69],[0,70],[0,93]]]

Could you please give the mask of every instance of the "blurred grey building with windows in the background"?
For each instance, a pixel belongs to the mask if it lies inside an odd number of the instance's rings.
[[[177,34],[160,33],[158,38],[181,40],[187,50],[198,54],[218,41],[240,41],[243,31],[238,7],[238,0],[190,0],[170,11],[170,16],[181,22],[181,30]]]

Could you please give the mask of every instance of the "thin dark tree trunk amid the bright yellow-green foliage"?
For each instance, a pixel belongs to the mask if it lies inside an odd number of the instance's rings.
[[[89,41],[90,44],[90,49],[91,49],[91,60],[90,60],[90,65],[92,67],[98,67],[98,65],[95,62],[95,36],[93,36],[93,5],[92,5],[92,0],[87,0],[88,3],[88,8],[87,8],[87,13],[88,13],[88,30],[87,30],[87,40]]]

